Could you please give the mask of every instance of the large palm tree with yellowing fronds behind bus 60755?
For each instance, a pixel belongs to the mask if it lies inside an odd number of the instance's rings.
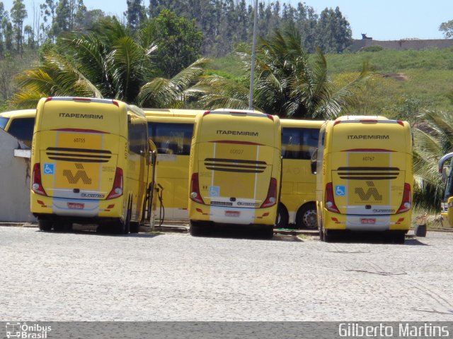
[[[16,107],[35,107],[40,97],[108,97],[154,107],[181,107],[183,90],[195,83],[207,59],[195,61],[172,79],[159,78],[156,44],[147,27],[132,32],[116,18],[91,32],[59,39],[42,63],[17,77]]]

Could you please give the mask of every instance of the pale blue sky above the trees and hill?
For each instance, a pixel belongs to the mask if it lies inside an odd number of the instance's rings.
[[[25,0],[28,20],[33,17],[33,3],[36,8],[43,0]],[[146,6],[149,0],[144,0]],[[254,3],[252,0],[248,2]],[[271,0],[260,0],[268,4]],[[299,1],[280,0],[293,6]],[[400,40],[405,38],[442,39],[439,26],[453,20],[453,0],[305,0],[306,5],[315,8],[316,13],[326,7],[340,7],[343,16],[352,28],[352,37],[360,39],[360,33],[374,40]],[[13,0],[3,1],[9,11]],[[126,10],[126,0],[84,0],[88,9],[101,8],[105,13],[121,15]]]

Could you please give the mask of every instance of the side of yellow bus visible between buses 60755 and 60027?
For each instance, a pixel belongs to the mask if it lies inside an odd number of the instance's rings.
[[[161,219],[187,221],[189,154],[196,109],[144,108],[149,138],[158,149],[156,185],[161,193]]]

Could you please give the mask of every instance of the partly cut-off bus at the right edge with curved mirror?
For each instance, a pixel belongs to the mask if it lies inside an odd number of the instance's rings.
[[[440,215],[442,226],[452,227],[453,225],[453,153],[448,153],[439,160],[439,172],[442,174],[442,182],[445,182],[445,195],[442,200]],[[449,165],[446,165],[447,160]]]

